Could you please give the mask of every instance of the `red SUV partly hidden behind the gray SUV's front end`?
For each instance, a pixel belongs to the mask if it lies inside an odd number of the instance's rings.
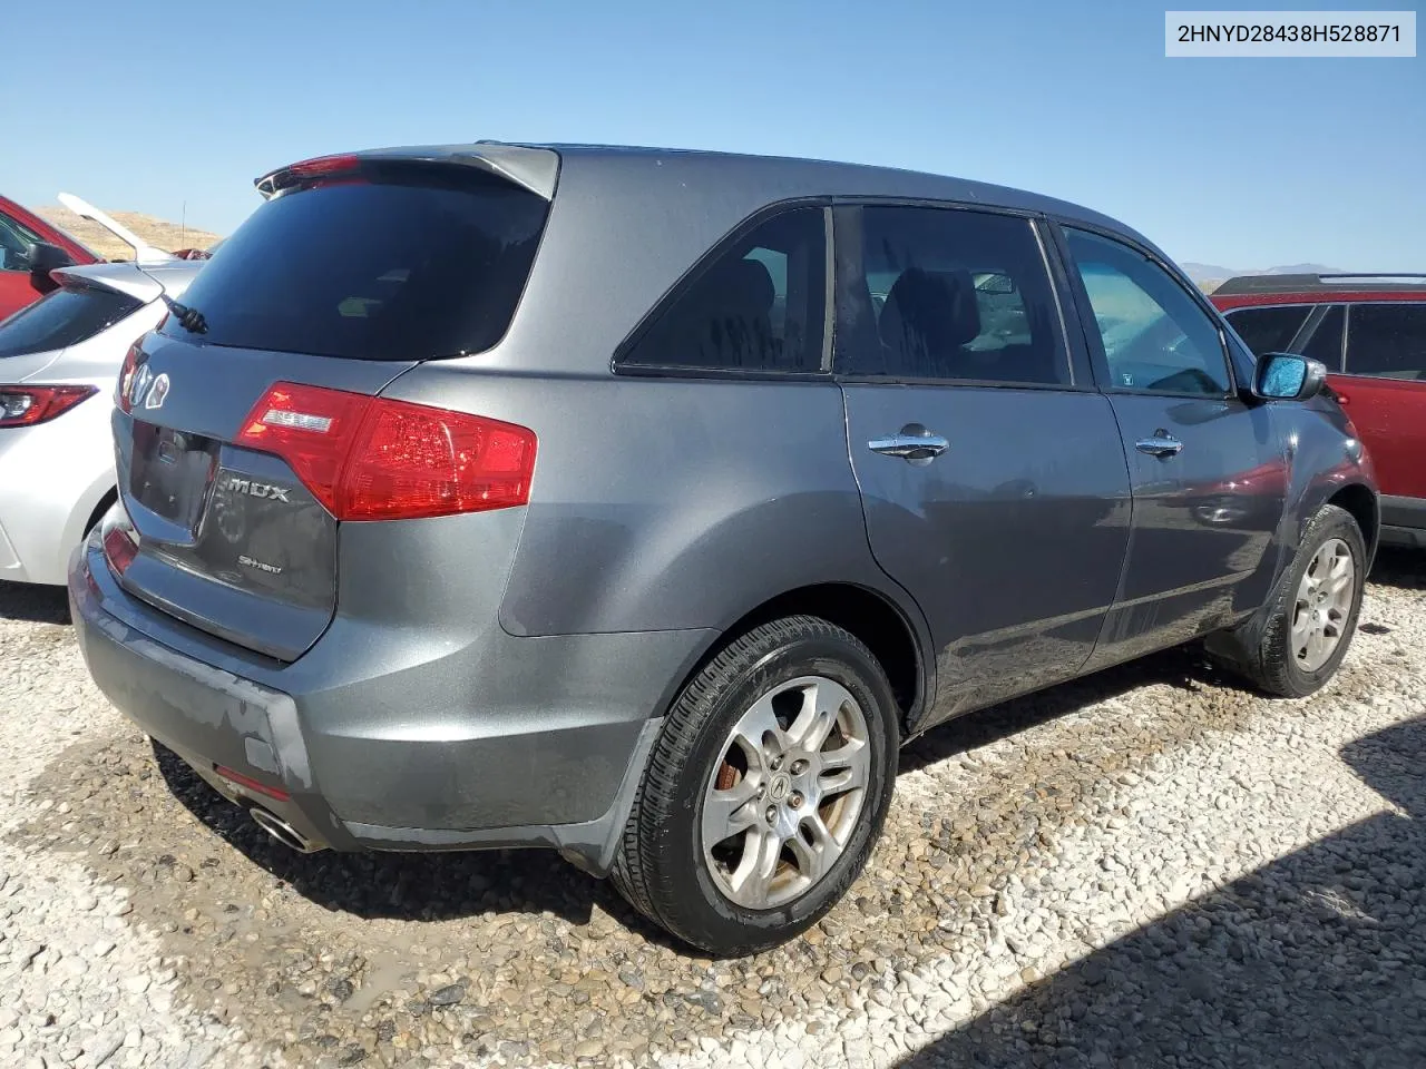
[[[1328,366],[1382,487],[1382,542],[1426,547],[1426,275],[1242,275],[1212,294],[1253,353]]]

